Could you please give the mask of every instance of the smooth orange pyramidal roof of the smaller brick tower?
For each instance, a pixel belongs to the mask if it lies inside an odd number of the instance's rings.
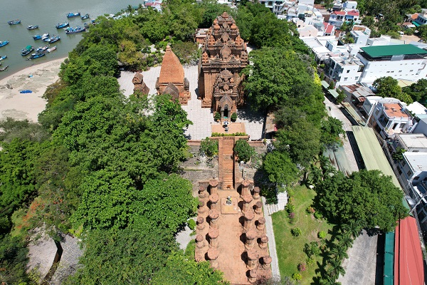
[[[184,83],[184,68],[170,46],[166,47],[163,56],[159,83]]]

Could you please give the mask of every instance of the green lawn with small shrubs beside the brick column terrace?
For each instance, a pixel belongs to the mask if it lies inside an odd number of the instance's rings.
[[[276,249],[278,252],[278,262],[280,275],[292,276],[294,273],[302,275],[301,284],[311,284],[313,277],[316,276],[316,262],[307,266],[305,271],[298,271],[298,264],[306,262],[307,255],[303,252],[304,245],[310,242],[320,242],[317,233],[320,231],[328,232],[332,229],[332,224],[326,221],[315,219],[312,214],[308,214],[305,209],[312,204],[316,193],[305,186],[296,186],[293,204],[295,205],[295,222],[289,223],[288,212],[280,211],[271,215],[273,219],[273,229],[275,235]],[[302,234],[299,237],[293,237],[290,233],[292,228],[298,227]],[[330,234],[327,234],[327,239]],[[322,264],[321,257],[315,257],[315,261]]]

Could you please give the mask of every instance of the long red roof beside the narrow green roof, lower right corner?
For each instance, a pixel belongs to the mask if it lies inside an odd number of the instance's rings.
[[[423,285],[424,269],[418,227],[413,217],[399,221],[394,238],[394,285]]]

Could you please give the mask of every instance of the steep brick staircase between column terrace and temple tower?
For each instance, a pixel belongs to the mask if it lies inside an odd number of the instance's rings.
[[[222,188],[223,190],[234,189],[234,137],[223,137],[222,145],[219,150],[220,162],[222,167]]]

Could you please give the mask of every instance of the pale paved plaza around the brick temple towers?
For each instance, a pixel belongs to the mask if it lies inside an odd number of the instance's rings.
[[[184,66],[185,77],[190,83],[191,100],[188,105],[182,105],[186,111],[187,118],[193,122],[185,131],[186,138],[189,140],[201,140],[210,137],[212,130],[211,125],[220,125],[214,120],[214,114],[209,108],[201,108],[201,100],[197,99],[197,78],[199,76],[198,66]],[[160,66],[150,68],[149,71],[143,71],[144,82],[149,88],[149,98],[157,94],[156,81],[160,74]],[[122,71],[120,78],[117,81],[120,84],[120,89],[127,97],[133,93],[132,78],[134,72]],[[251,140],[260,140],[263,135],[264,116],[253,111],[246,106],[237,111],[238,119],[236,123],[244,123],[246,133],[250,135]]]

